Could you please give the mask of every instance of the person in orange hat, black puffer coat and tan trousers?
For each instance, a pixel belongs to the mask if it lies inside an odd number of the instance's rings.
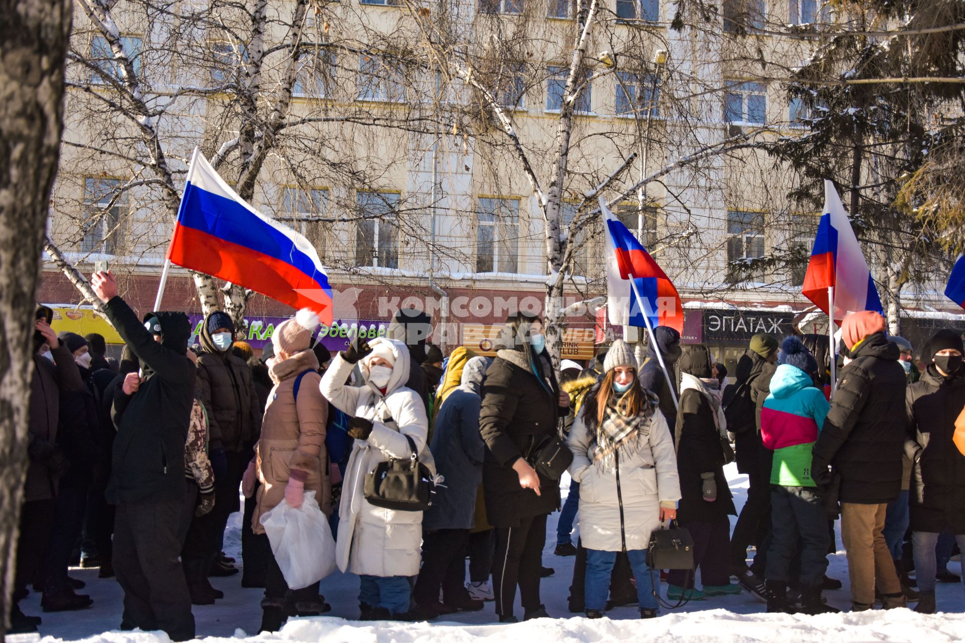
[[[905,372],[898,347],[885,336],[877,312],[853,312],[841,323],[851,361],[831,400],[831,411],[813,447],[812,477],[818,487],[841,476],[841,540],[847,550],[853,611],[870,609],[875,586],[885,608],[905,598],[882,530],[888,503],[901,491],[904,452]]]

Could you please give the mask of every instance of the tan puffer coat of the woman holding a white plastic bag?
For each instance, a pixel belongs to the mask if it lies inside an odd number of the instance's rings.
[[[311,372],[302,377],[295,400],[295,379],[305,371]],[[255,465],[262,482],[252,519],[255,533],[264,533],[259,519],[285,497],[291,469],[308,473],[305,491],[315,492],[318,506],[326,516],[332,511],[332,481],[325,451],[328,403],[318,390],[321,377],[317,371],[318,360],[311,350],[295,353],[284,362],[275,362],[268,370],[275,386],[268,393],[262,439],[255,446]]]

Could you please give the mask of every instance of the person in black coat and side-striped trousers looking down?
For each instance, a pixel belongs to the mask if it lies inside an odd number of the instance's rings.
[[[539,578],[546,516],[559,509],[560,488],[532,463],[542,443],[556,435],[569,397],[553,374],[537,316],[510,315],[499,345],[486,372],[480,412],[486,443],[483,492],[486,517],[496,527],[496,614],[502,623],[515,623],[517,584],[524,620],[547,616],[539,602]]]

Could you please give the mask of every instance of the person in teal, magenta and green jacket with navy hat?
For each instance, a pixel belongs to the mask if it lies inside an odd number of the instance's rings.
[[[787,583],[800,549],[801,611],[838,611],[821,603],[828,567],[828,522],[811,471],[811,449],[831,406],[811,374],[817,362],[797,337],[781,343],[771,391],[760,413],[760,438],[774,451],[771,469],[771,545],[767,551],[767,611],[791,612]],[[800,548],[798,545],[800,544]]]

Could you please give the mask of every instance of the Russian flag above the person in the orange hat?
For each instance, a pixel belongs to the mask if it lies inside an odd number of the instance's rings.
[[[844,211],[834,183],[824,181],[824,214],[817,226],[808,272],[804,276],[804,296],[817,308],[829,313],[828,288],[834,287],[834,319],[841,323],[859,310],[882,312],[878,291],[871,279],[858,237]]]

